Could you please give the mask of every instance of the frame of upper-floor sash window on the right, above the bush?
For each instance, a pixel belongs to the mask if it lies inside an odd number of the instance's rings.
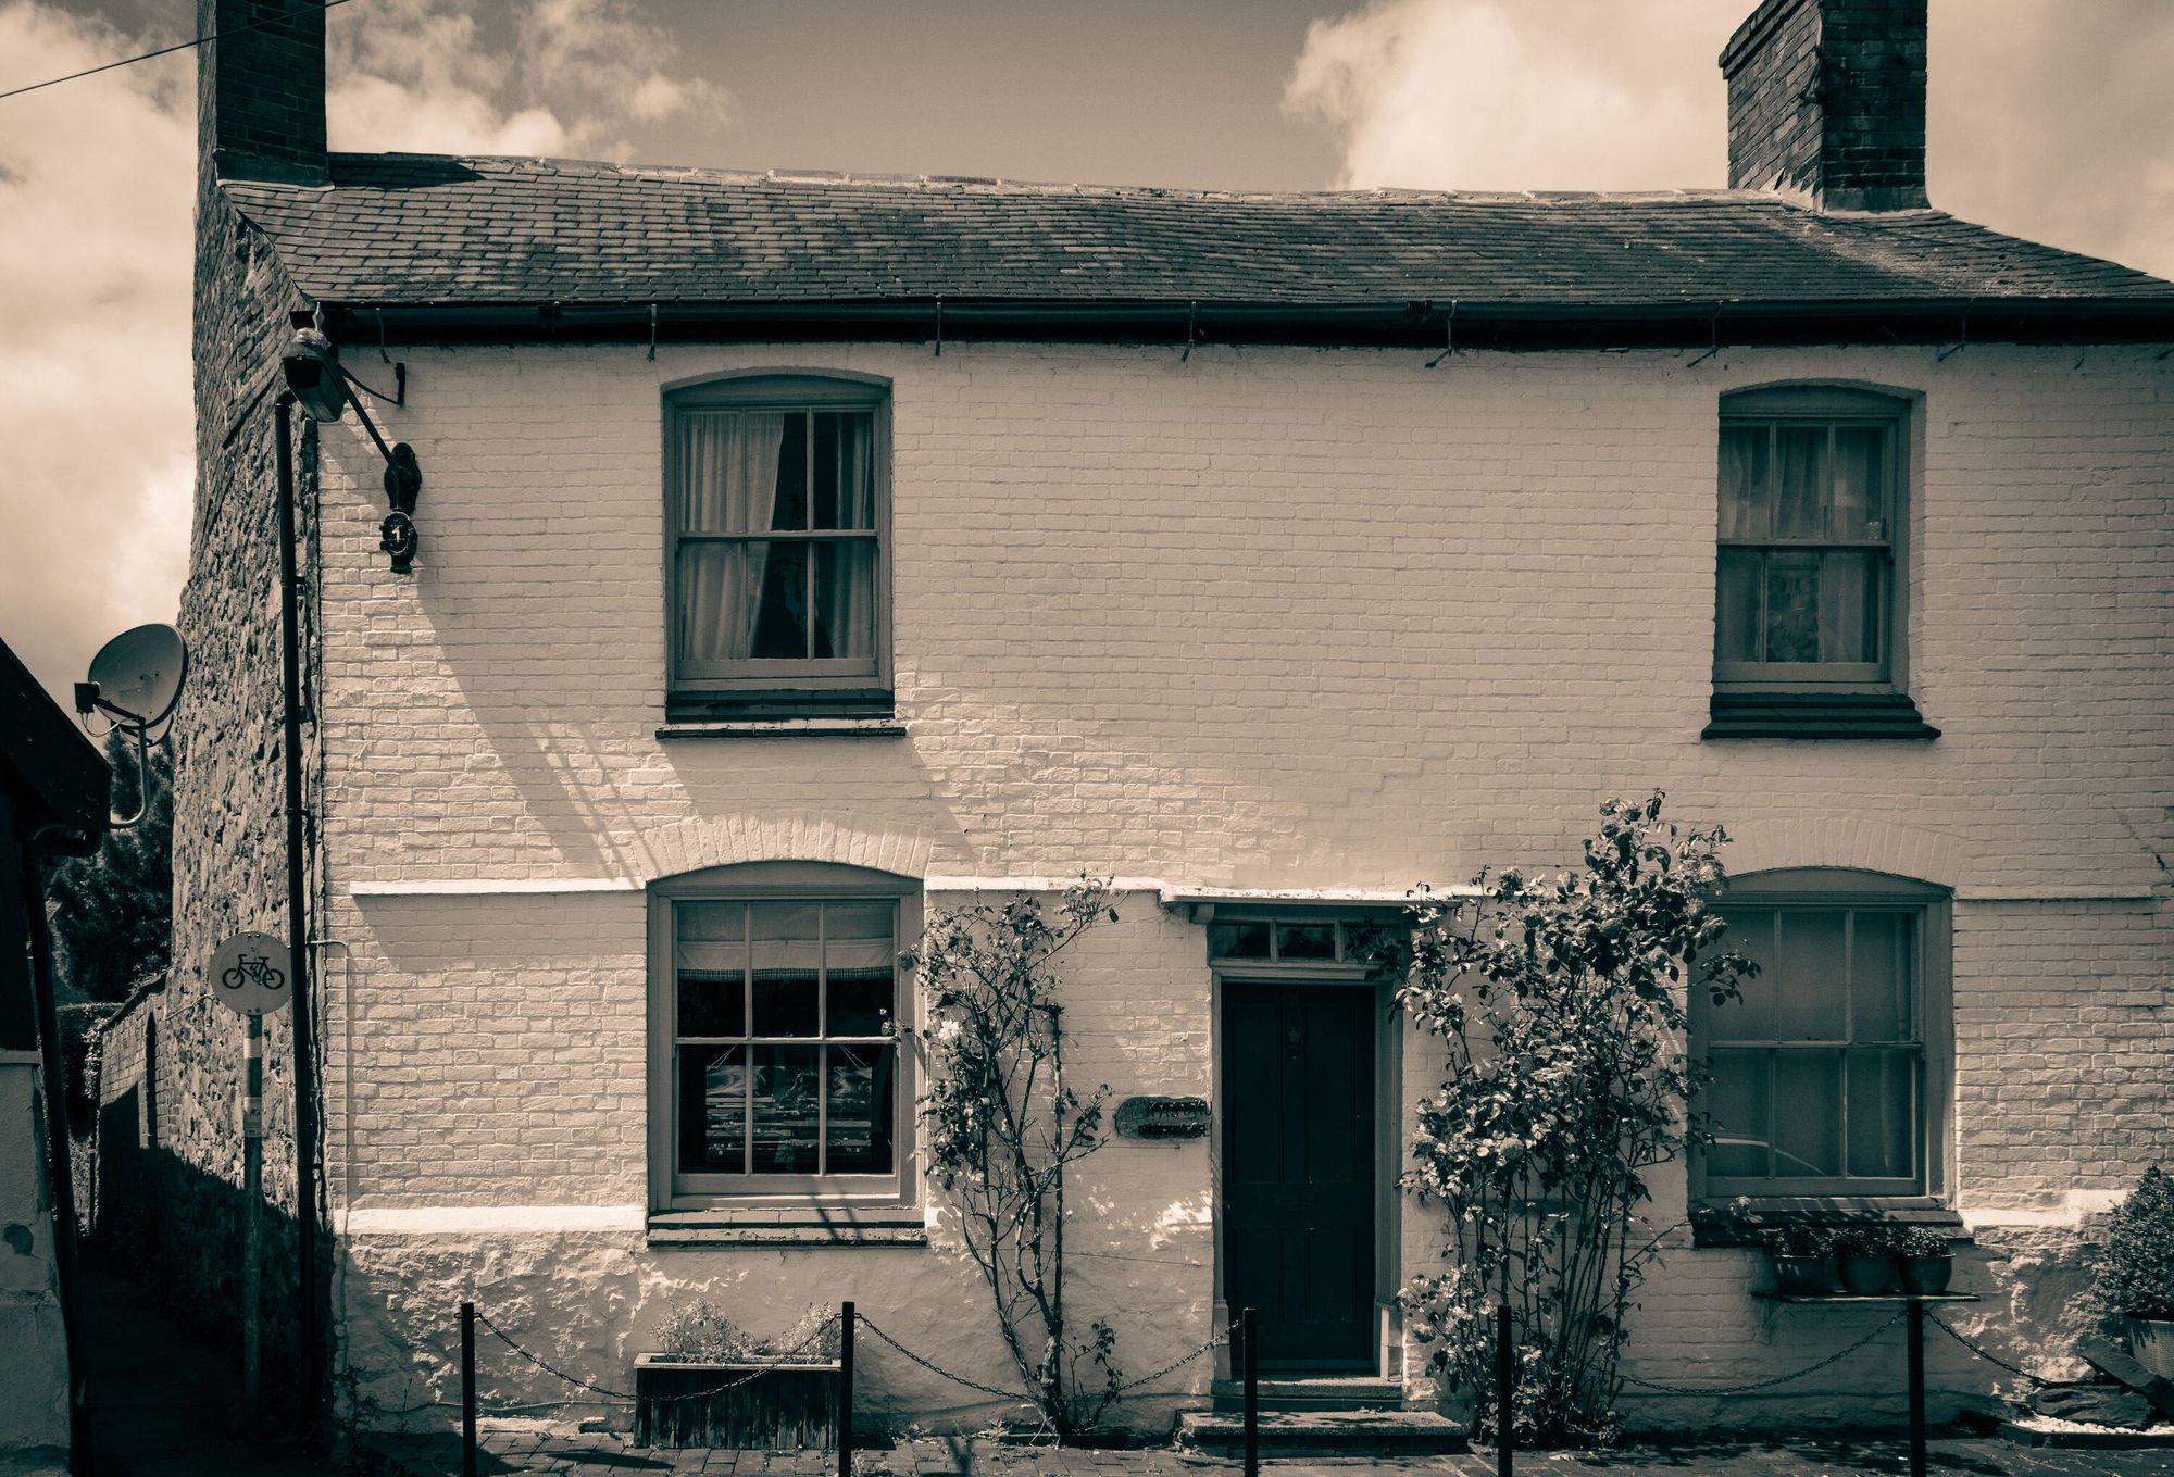
[[[1885,437],[1881,482],[1887,493],[1887,539],[1724,539],[1715,517],[1715,586],[1713,586],[1713,686],[1722,693],[1900,693],[1902,658],[1909,632],[1909,432],[1911,402],[1902,395],[1850,389],[1839,384],[1789,384],[1746,389],[1722,395],[1720,430],[1767,426],[1778,439],[1783,428],[1824,426],[1833,467],[1833,432],[1841,428],[1878,428]],[[1715,439],[1720,445],[1720,439]],[[1767,467],[1778,467],[1770,447]],[[1715,515],[1720,513],[1720,476],[1715,467]],[[1878,660],[1874,662],[1763,662],[1722,660],[1722,591],[1720,560],[1724,550],[1872,550],[1885,552],[1881,571]]]

